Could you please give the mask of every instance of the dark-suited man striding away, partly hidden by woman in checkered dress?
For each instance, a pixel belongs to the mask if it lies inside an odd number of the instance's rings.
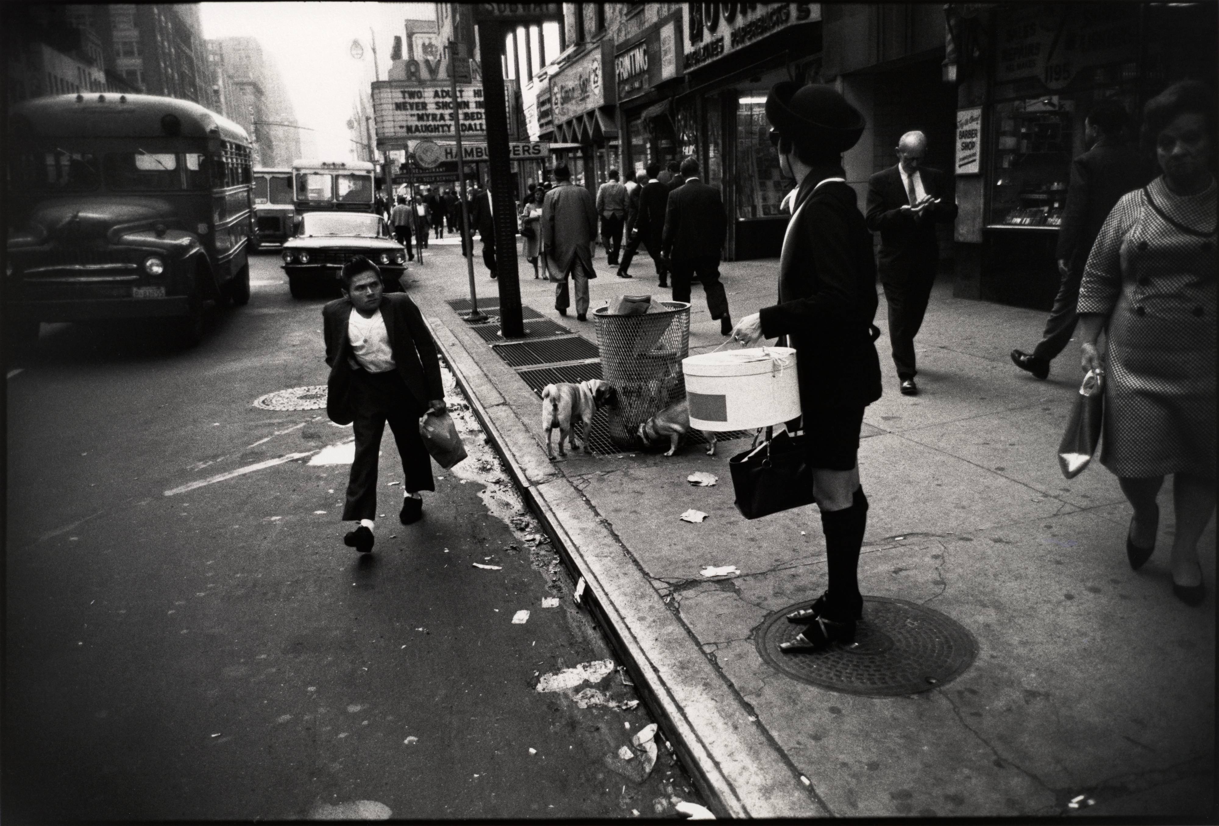
[[[1121,104],[1102,101],[1084,121],[1084,139],[1091,145],[1070,167],[1067,208],[1058,230],[1058,295],[1046,320],[1046,331],[1031,353],[1012,351],[1012,361],[1039,379],[1050,375],[1050,362],[1075,333],[1079,284],[1092,242],[1109,212],[1126,192],[1151,180],[1151,164],[1126,146],[1123,130],[1130,116]]]

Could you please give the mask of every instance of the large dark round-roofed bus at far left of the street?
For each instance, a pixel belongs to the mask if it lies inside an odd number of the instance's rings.
[[[250,300],[250,139],[185,100],[77,94],[9,118],[6,322],[165,318],[183,344],[205,303]]]

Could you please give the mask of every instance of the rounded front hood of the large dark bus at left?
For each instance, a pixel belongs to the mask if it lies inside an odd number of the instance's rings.
[[[16,218],[16,221],[13,221]],[[10,246],[116,240],[156,224],[180,229],[182,222],[168,201],[157,197],[49,199],[27,213],[10,216]]]

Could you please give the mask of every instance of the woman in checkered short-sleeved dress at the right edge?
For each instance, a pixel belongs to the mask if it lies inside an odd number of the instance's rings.
[[[1163,175],[1128,192],[1092,246],[1079,292],[1084,369],[1104,368],[1101,463],[1135,514],[1130,567],[1156,548],[1156,495],[1174,474],[1173,592],[1206,597],[1197,542],[1215,508],[1215,101],[1197,82],[1147,101]],[[1107,329],[1102,359],[1096,341]]]

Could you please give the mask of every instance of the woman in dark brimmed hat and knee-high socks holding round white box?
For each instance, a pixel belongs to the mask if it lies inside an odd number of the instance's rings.
[[[779,303],[741,319],[733,337],[750,345],[787,336],[796,348],[801,426],[813,436],[808,462],[829,582],[812,607],[787,616],[807,625],[780,646],[795,653],[853,641],[863,616],[856,571],[868,498],[859,486],[857,453],[863,411],[880,398],[874,344],[880,331],[872,323],[872,234],[841,161],[863,134],[863,116],[830,86],[791,82],[770,90],[766,113],[780,169],[796,180],[796,195],[779,262]]]

